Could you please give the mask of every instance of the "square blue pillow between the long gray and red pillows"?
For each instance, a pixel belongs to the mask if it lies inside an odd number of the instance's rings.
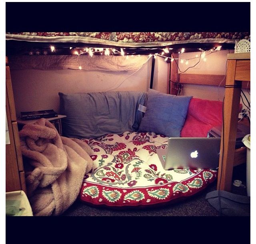
[[[139,131],[180,137],[191,98],[192,96],[176,96],[149,89],[147,108]]]

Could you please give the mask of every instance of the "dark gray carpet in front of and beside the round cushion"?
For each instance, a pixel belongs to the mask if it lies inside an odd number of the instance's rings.
[[[233,180],[240,179],[243,184],[246,184],[245,170],[244,166],[234,167]],[[144,209],[114,210],[112,208],[88,206],[86,203],[76,200],[62,216],[221,216],[205,199],[206,194],[216,190],[216,188],[217,181],[214,181],[202,192],[181,202]],[[231,192],[246,196],[246,189],[242,187],[232,185]]]

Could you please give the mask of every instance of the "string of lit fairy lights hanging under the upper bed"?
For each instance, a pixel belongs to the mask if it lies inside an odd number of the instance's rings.
[[[154,50],[159,50],[159,48],[139,48],[140,50],[152,50],[152,53],[154,53]],[[154,58],[157,58],[158,56],[159,57],[162,57],[164,58],[165,61],[168,61],[170,60],[171,62],[173,62],[174,60],[180,60],[180,63],[185,63],[186,65],[189,64],[189,61],[190,60],[194,60],[196,58],[200,58],[202,59],[203,61],[206,61],[206,56],[214,53],[214,52],[218,52],[221,50],[221,46],[218,46],[216,48],[211,48],[210,50],[202,50],[201,48],[198,48],[198,50],[201,52],[200,55],[196,54],[195,57],[193,58],[187,58],[187,59],[184,59],[184,58],[174,58],[172,56],[172,53],[171,53],[171,50],[173,48],[163,48],[162,49],[162,53],[159,54],[159,53],[154,53],[154,54],[149,54],[148,56],[149,57],[152,57],[154,56]],[[50,46],[50,50],[51,52],[55,52],[55,48],[54,46]],[[110,55],[121,55],[121,56],[126,56],[126,59],[129,58],[129,56],[140,56],[139,55],[136,55],[135,53],[134,54],[131,54],[131,53],[127,53],[125,52],[125,48],[120,48],[120,50],[116,49],[116,48],[72,48],[70,47],[70,50],[71,50],[71,54],[72,55],[77,55],[78,56],[78,68],[79,69],[82,69],[81,65],[80,65],[80,56],[81,55],[89,55],[90,57],[94,56],[95,54],[99,54],[99,55],[105,55],[105,56],[110,56]],[[137,48],[138,50],[138,48]],[[178,54],[183,54],[185,52],[185,48],[181,48],[180,52],[178,52]],[[171,54],[171,55],[168,55],[168,54]],[[170,56],[170,57],[169,57]]]

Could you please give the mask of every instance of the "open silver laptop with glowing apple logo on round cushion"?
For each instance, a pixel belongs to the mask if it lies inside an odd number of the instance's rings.
[[[170,137],[168,147],[156,152],[165,170],[216,169],[220,137]]]

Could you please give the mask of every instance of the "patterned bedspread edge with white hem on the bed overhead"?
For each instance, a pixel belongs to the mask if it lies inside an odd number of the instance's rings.
[[[6,40],[82,42],[116,46],[156,46],[190,42],[235,43],[250,32],[6,32]]]

